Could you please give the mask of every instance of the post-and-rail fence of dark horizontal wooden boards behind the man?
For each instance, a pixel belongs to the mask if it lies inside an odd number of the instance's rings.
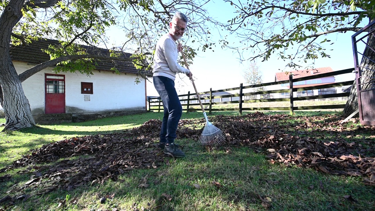
[[[345,69],[341,71],[334,71],[324,74],[317,74],[303,78],[290,78],[290,80],[277,81],[263,84],[256,84],[251,86],[242,86],[229,88],[229,89],[220,89],[212,90],[208,92],[201,92],[202,104],[210,111],[240,111],[243,110],[312,110],[312,109],[341,109],[345,104],[341,105],[320,105],[320,106],[294,106],[294,101],[301,100],[320,100],[324,98],[341,98],[349,96],[351,86],[353,86],[353,81],[345,81],[340,83],[331,83],[309,87],[298,87],[293,88],[293,83],[297,81],[311,80],[314,78],[328,77],[340,74],[347,74],[354,70],[354,68]],[[266,87],[278,84],[290,84],[288,89],[276,89],[276,90],[264,90],[258,92],[246,92],[243,93],[244,89],[251,89],[255,87]],[[284,88],[287,88],[284,86]],[[213,95],[217,92],[226,92],[226,91],[236,91],[239,94],[225,94],[225,95]],[[187,111],[199,111],[200,108],[192,108],[192,106],[199,106],[199,102],[196,98],[195,92],[193,94],[178,95],[180,97],[181,105],[184,108],[183,110]],[[210,101],[211,99],[211,101]],[[241,100],[242,99],[242,100]],[[148,97],[148,110],[158,110],[159,112],[163,110],[162,101],[159,97]],[[242,108],[243,103],[252,103],[252,102],[277,102],[277,101],[290,101],[290,107],[256,107],[256,108]],[[238,104],[237,108],[225,108],[218,109],[212,107],[212,105],[223,105],[223,104]]]

